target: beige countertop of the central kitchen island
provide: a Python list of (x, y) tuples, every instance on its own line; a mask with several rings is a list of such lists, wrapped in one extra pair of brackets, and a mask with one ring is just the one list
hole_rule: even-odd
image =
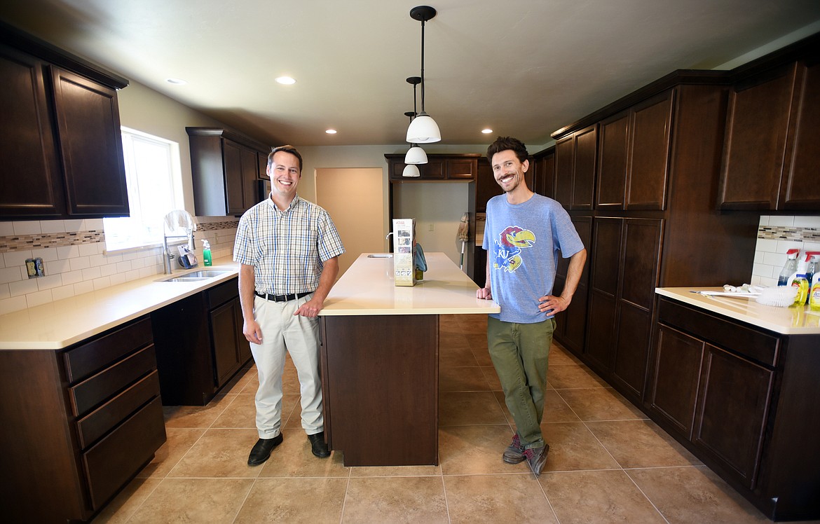
[(362, 253), (336, 282), (320, 316), (487, 314), (501, 311), (492, 300), (476, 298), (478, 286), (444, 253), (425, 253), (424, 280), (396, 286), (393, 258)]

